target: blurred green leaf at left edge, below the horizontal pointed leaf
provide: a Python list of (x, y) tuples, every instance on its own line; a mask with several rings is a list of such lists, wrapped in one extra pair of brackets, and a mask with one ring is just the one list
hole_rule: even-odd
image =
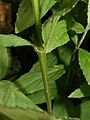
[(10, 55), (9, 49), (5, 47), (0, 47), (0, 79), (4, 78), (10, 67)]

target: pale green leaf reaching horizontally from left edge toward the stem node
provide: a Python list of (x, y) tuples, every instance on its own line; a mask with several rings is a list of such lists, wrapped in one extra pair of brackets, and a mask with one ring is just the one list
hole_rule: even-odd
[(25, 45), (32, 46), (32, 44), (29, 41), (27, 41), (27, 40), (25, 40), (21, 37), (18, 37), (16, 35), (0, 34), (0, 46), (4, 46), (4, 47), (14, 46), (14, 47), (17, 47), (17, 46), (25, 46)]

